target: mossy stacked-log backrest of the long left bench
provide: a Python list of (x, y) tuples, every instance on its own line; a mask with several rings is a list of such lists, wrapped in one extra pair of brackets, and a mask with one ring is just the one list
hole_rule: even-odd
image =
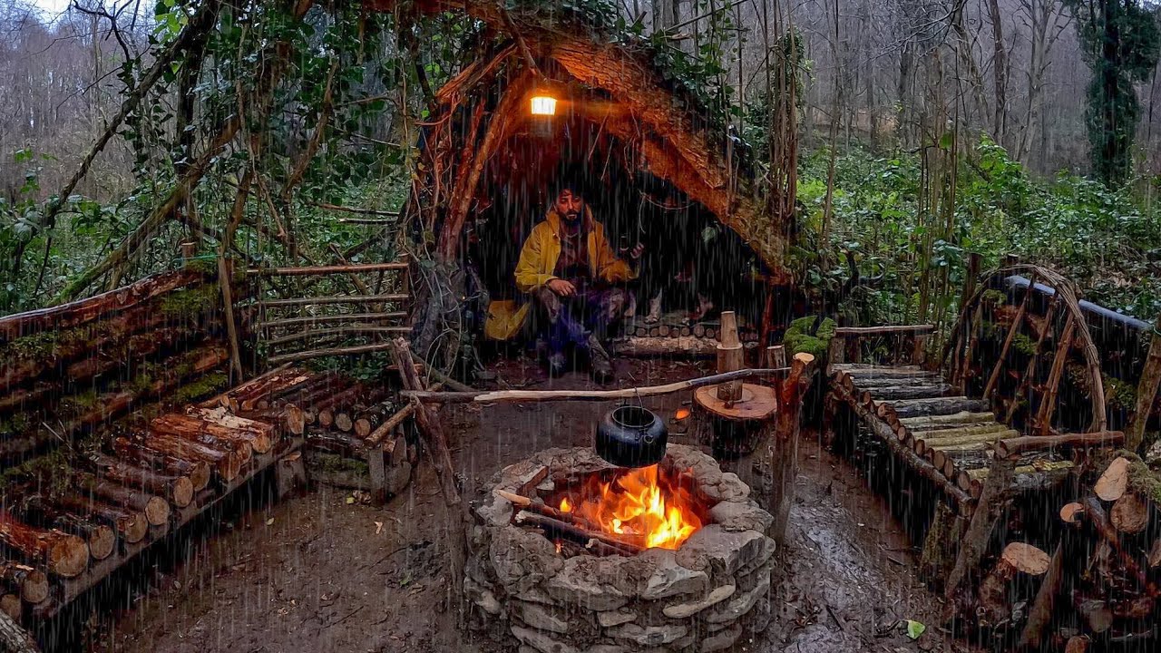
[(0, 459), (84, 437), (179, 390), (209, 394), (207, 379), (224, 383), (211, 374), (229, 359), (219, 301), (211, 279), (182, 268), (0, 318)]

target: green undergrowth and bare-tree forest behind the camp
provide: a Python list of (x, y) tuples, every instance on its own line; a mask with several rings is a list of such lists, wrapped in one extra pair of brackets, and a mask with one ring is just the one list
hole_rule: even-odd
[[(758, 153), (759, 175), (769, 76), (796, 71), (794, 272), (819, 297), (850, 277), (846, 252), (880, 278), (828, 308), (848, 322), (946, 323), (967, 252), (985, 267), (1007, 253), (1053, 265), (1091, 301), (1161, 313), (1161, 10), (1148, 0), (507, 5), (648, 44), (723, 139)], [(199, 24), (202, 46), (156, 70)], [(463, 15), (359, 2), (0, 0), (0, 314), (170, 267), (183, 241), (214, 251), (237, 196), (230, 247), (251, 261), (390, 256), (381, 227), (326, 207), (399, 208), (431, 89), (479, 40)], [(291, 65), (250, 110), (272, 44)], [(216, 127), (237, 112), (219, 151)], [(260, 192), (238, 192), (248, 185)]]

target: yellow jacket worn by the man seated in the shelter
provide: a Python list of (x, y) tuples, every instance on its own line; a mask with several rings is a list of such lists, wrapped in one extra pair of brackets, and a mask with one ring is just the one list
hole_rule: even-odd
[[(605, 237), (605, 225), (592, 218), (592, 211), (584, 208), (585, 229), (589, 232), (589, 272), (593, 279), (608, 284), (628, 281), (636, 278), (636, 272), (616, 257)], [(548, 284), (556, 275), (556, 260), (561, 258), (561, 216), (555, 208), (548, 209), (545, 221), (532, 228), (532, 234), (524, 242), (520, 260), (515, 265), (515, 287), (525, 294), (532, 294)], [(496, 300), (488, 304), (488, 321), (484, 323), (484, 336), (493, 340), (509, 340), (515, 337), (528, 318), (531, 303), (527, 299)]]

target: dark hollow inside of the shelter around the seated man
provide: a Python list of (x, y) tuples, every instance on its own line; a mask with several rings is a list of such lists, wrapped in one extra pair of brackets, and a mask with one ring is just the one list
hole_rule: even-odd
[(519, 299), (513, 271), (521, 246), (560, 187), (570, 184), (604, 223), (619, 257), (628, 260), (636, 244), (644, 246), (640, 275), (628, 284), (639, 318), (652, 300), (669, 320), (713, 318), (727, 309), (756, 325), (762, 271), (741, 237), (650, 173), (635, 143), (611, 134), (607, 120), (619, 109), (607, 95), (577, 84), (539, 92), (553, 93), (555, 115), (532, 114), (533, 89), (475, 198), (467, 258), (490, 299)]

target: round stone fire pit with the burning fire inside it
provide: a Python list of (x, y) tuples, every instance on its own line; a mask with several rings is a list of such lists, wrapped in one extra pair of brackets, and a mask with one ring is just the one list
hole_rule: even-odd
[(471, 627), (498, 644), (723, 651), (770, 620), (773, 517), (693, 447), (641, 468), (549, 449), (490, 485), (464, 593)]

